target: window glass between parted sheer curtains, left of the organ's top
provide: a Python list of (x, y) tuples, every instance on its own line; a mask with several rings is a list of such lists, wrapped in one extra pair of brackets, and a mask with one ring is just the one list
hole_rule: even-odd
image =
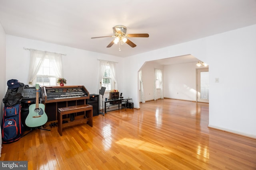
[[(40, 59), (36, 59), (37, 63), (39, 61)], [(35, 82), (41, 86), (56, 86), (57, 79), (58, 76), (55, 74), (53, 64), (50, 62), (50, 59), (46, 57), (46, 59), (44, 59), (44, 63), (36, 74)]]

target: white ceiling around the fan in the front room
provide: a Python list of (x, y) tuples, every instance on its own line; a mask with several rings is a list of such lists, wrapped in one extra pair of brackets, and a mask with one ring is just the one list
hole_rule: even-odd
[[(9, 35), (128, 57), (254, 25), (256, 0), (0, 0), (0, 23)], [(115, 25), (149, 37), (121, 51), (106, 48), (112, 37), (91, 39)]]

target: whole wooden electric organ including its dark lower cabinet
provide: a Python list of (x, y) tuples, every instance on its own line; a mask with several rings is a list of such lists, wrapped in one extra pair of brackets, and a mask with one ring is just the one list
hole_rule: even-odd
[[(89, 92), (84, 86), (42, 87), (42, 102), (45, 105), (48, 121), (57, 120), (58, 108), (84, 105), (87, 99), (89, 99)], [(84, 111), (76, 113), (76, 115), (83, 114)]]

